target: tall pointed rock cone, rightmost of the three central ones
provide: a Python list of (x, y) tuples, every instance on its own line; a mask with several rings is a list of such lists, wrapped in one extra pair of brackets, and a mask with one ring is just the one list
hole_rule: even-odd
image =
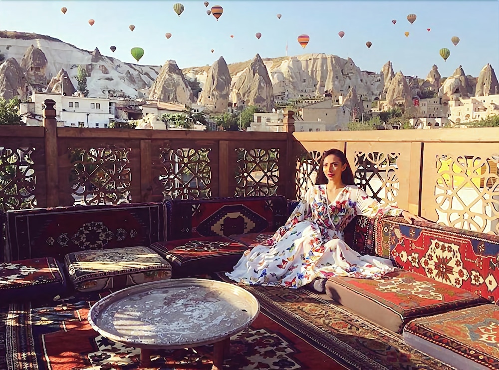
[(255, 105), (266, 111), (273, 108), (273, 88), (267, 68), (256, 54), (232, 88), (232, 101)]

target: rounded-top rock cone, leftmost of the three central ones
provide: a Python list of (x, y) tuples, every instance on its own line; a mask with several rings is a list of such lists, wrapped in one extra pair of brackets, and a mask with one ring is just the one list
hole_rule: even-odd
[(154, 80), (149, 99), (163, 102), (192, 104), (194, 95), (175, 60), (168, 60)]

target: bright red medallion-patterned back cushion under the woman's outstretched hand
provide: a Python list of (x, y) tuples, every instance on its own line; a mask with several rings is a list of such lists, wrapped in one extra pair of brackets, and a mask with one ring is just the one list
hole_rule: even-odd
[(399, 218), (376, 226), (376, 254), (404, 270), (499, 300), (499, 237)]

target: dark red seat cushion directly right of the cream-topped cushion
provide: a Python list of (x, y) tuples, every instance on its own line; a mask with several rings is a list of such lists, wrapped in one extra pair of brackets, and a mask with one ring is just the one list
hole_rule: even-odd
[(171, 263), (174, 277), (232, 271), (248, 247), (227, 237), (157, 242), (152, 246)]

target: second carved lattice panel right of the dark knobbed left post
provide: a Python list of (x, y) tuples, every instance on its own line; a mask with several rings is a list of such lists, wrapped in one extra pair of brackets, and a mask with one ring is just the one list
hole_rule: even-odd
[[(216, 166), (213, 141), (164, 141), (153, 145), (155, 194), (163, 199), (210, 198), (218, 195), (213, 181)], [(215, 189), (214, 189), (215, 184)]]

